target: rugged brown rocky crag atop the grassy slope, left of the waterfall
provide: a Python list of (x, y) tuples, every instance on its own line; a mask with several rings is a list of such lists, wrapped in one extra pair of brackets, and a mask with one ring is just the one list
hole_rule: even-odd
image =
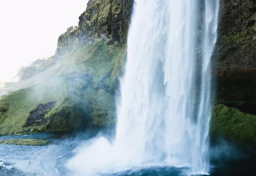
[(90, 0), (87, 9), (79, 17), (78, 26), (68, 28), (58, 39), (57, 52), (72, 50), (76, 38), (81, 46), (95, 42), (97, 38), (126, 44), (134, 0)]

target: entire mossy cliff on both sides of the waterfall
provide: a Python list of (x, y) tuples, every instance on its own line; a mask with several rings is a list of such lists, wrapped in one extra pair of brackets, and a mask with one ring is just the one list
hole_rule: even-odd
[[(21, 69), (21, 81), (0, 99), (0, 134), (114, 124), (132, 6), (90, 0), (78, 26), (59, 37), (56, 54)], [(256, 0), (221, 0), (212, 68), (212, 138), (255, 146)]]

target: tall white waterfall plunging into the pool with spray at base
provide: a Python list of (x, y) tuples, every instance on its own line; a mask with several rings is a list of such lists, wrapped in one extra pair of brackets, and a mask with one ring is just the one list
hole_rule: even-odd
[(114, 172), (167, 165), (208, 172), (210, 59), (217, 37), (218, 1), (134, 3), (117, 101), (116, 138), (112, 143), (103, 137), (93, 139), (69, 166)]

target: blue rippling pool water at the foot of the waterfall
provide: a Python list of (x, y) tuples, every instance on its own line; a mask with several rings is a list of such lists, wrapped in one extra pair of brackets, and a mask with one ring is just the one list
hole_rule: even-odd
[[(74, 151), (81, 141), (90, 143), (96, 131), (74, 134), (38, 133), (32, 135), (0, 136), (2, 139), (39, 138), (50, 140), (47, 146), (0, 145), (0, 176), (185, 176), (189, 168), (149, 165), (119, 170), (115, 173), (80, 172), (66, 167), (66, 162), (74, 157)], [(210, 148), (211, 176), (255, 175), (255, 152), (240, 151), (221, 142)], [(241, 157), (242, 156), (242, 157)], [(90, 158), (94, 160), (95, 157)], [(100, 157), (98, 160), (104, 158)], [(89, 160), (89, 159), (88, 159)], [(82, 161), (81, 164), (84, 164)], [(86, 165), (84, 168), (86, 169)]]

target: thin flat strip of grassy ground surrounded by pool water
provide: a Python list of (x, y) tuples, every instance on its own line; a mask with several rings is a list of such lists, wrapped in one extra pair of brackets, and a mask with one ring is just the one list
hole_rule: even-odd
[(49, 144), (49, 140), (42, 139), (6, 139), (0, 140), (0, 144), (12, 144), (12, 145), (23, 145), (23, 146), (43, 146)]

